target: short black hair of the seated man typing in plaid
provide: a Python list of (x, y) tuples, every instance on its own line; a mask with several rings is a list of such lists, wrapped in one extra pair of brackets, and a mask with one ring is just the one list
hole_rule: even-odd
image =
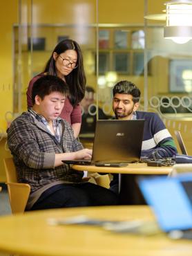
[(50, 93), (55, 91), (68, 95), (68, 85), (64, 80), (54, 75), (44, 75), (40, 77), (32, 86), (32, 104), (35, 104), (36, 95), (38, 95), (41, 100), (44, 100), (46, 95), (50, 95)]

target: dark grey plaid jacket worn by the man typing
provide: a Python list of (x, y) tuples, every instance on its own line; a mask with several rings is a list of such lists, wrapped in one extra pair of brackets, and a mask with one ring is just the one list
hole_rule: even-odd
[(60, 143), (41, 121), (25, 112), (8, 129), (8, 146), (18, 181), (30, 184), (31, 192), (55, 181), (81, 181), (83, 172), (70, 170), (68, 165), (54, 166), (55, 154), (76, 152), (83, 148), (66, 120), (58, 120), (58, 127)]

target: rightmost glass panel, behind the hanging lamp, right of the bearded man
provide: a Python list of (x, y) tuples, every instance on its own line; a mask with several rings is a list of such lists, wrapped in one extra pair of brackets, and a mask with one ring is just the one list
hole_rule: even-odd
[[(154, 10), (154, 1), (148, 0), (147, 15), (163, 13), (164, 2)], [(155, 17), (155, 16), (154, 16)], [(157, 17), (157, 16), (156, 16)], [(165, 20), (146, 21), (146, 53), (150, 55), (151, 75), (146, 77), (147, 110), (159, 113), (175, 139), (175, 130), (180, 130), (192, 154), (192, 41), (177, 44), (164, 39)], [(177, 145), (177, 149), (180, 149)]]

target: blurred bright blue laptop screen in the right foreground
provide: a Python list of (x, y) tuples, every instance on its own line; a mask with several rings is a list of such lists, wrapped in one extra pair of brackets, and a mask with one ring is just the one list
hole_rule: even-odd
[(138, 183), (162, 230), (192, 228), (192, 191), (189, 190), (192, 174), (170, 179), (165, 176), (139, 179)]

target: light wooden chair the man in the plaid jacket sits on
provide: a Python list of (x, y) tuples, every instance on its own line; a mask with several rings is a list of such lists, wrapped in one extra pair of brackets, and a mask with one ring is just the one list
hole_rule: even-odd
[(30, 185), (17, 182), (17, 174), (12, 158), (4, 158), (3, 163), (6, 169), (6, 184), (8, 186), (12, 214), (24, 212), (30, 194)]

